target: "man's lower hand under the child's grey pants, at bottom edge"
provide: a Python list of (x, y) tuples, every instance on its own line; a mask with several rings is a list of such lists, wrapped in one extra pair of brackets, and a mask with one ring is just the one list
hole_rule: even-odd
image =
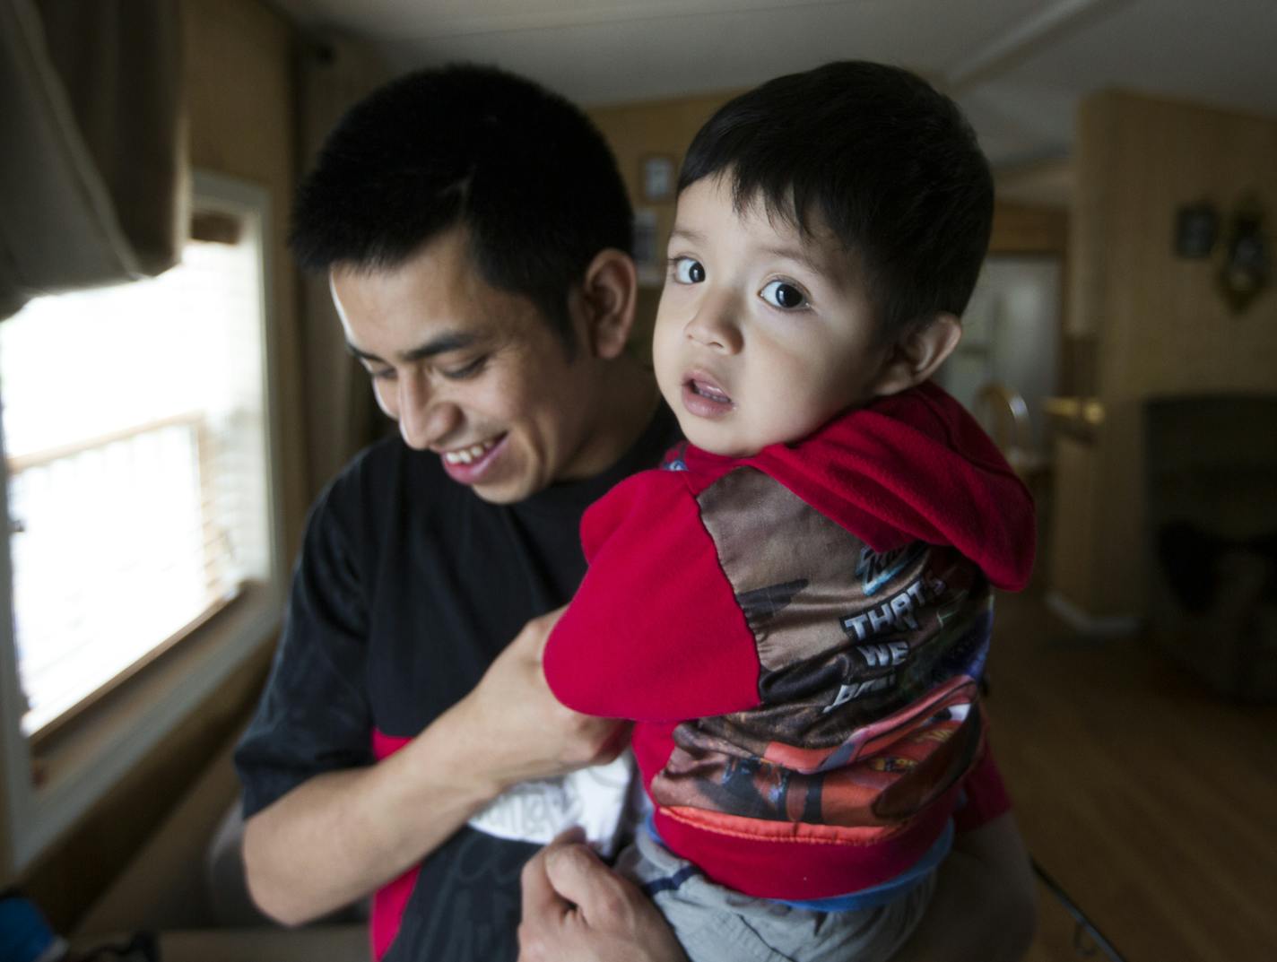
[(656, 907), (580, 837), (561, 836), (524, 866), (518, 962), (687, 962)]

